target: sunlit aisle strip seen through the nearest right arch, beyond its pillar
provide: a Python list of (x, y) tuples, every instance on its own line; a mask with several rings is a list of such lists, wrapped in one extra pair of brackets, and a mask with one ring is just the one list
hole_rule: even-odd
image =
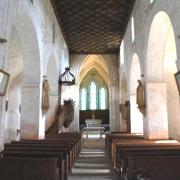
[(174, 73), (177, 72), (176, 60), (176, 42), (173, 27), (170, 24), (165, 44), (164, 78), (167, 85), (169, 135), (173, 138), (176, 138), (179, 132), (177, 123), (180, 116), (179, 94), (174, 78)]

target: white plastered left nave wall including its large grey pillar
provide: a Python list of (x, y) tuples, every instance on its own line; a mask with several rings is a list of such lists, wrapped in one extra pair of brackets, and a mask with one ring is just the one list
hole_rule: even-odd
[[(41, 111), (41, 91), (49, 57), (51, 54), (57, 54), (58, 73), (62, 73), (69, 65), (68, 49), (54, 10), (50, 0), (34, 0), (33, 4), (29, 0), (2, 0), (0, 1), (0, 24), (0, 37), (7, 39), (7, 43), (0, 44), (0, 67), (6, 71), (11, 69), (9, 67), (12, 65), (12, 58), (8, 56), (10, 55), (9, 47), (13, 46), (10, 44), (13, 42), (10, 39), (14, 34), (14, 29), (18, 34), (22, 54), (23, 75), (19, 78), (20, 80), (15, 81), (21, 84), (21, 87), (18, 90), (18, 86), (15, 85), (16, 90), (13, 90), (14, 93), (21, 92), (21, 95), (18, 95), (20, 96), (18, 105), (21, 104), (21, 118), (20, 125), (17, 123), (17, 127), (21, 127), (22, 138), (43, 138), (45, 116)], [(15, 78), (13, 73), (11, 75)], [(13, 96), (10, 93), (11, 87), (12, 85), (9, 86), (7, 97), (0, 98), (0, 149), (3, 148), (5, 126), (8, 128), (5, 101), (12, 101), (9, 99)], [(9, 108), (11, 107), (10, 103)]]

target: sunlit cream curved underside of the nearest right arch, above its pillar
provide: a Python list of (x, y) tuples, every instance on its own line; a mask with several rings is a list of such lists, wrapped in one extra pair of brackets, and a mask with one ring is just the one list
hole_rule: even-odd
[(158, 12), (152, 21), (147, 48), (146, 80), (164, 80), (164, 52), (167, 34), (172, 27), (171, 20), (164, 11)]

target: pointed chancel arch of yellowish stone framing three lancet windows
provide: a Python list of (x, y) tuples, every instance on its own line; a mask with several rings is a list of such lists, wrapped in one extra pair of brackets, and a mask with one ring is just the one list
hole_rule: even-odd
[[(85, 57), (80, 66), (79, 73), (79, 109), (80, 124), (82, 125), (82, 114), (86, 111), (88, 118), (102, 119), (103, 124), (109, 123), (109, 70), (100, 55), (89, 55)], [(85, 97), (86, 95), (86, 97)], [(106, 117), (106, 118), (105, 118)]]

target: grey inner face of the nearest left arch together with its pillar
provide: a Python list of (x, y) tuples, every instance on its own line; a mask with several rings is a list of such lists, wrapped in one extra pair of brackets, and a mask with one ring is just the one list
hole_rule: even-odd
[[(21, 59), (19, 60), (19, 71), (13, 70), (10, 82), (15, 74), (20, 79), (20, 130), (21, 138), (44, 137), (45, 122), (41, 120), (41, 65), (40, 52), (36, 30), (31, 17), (19, 14), (16, 17), (11, 30), (12, 38), (17, 38)], [(13, 41), (9, 41), (9, 48), (16, 48)], [(13, 59), (7, 61), (7, 69), (13, 66)], [(18, 83), (18, 81), (17, 81)], [(15, 81), (16, 84), (16, 81)], [(17, 84), (16, 84), (17, 85)], [(9, 89), (10, 90), (10, 89)]]

